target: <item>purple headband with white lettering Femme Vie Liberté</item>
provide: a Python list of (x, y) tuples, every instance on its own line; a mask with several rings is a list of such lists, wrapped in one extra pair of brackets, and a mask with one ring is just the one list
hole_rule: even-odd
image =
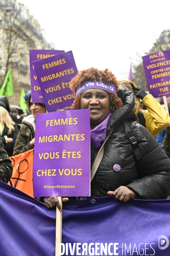
[(81, 94), (83, 91), (86, 91), (87, 89), (91, 89), (91, 88), (99, 88), (99, 89), (103, 89), (105, 91), (109, 91), (116, 94), (115, 85), (106, 81), (97, 80), (97, 81), (82, 82), (81, 85), (79, 85), (76, 88), (76, 96)]

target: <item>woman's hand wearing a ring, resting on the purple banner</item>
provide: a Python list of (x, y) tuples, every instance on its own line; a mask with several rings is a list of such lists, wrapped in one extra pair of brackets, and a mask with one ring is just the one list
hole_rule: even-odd
[(114, 192), (108, 191), (109, 196), (113, 196), (116, 200), (128, 202), (131, 198), (138, 198), (137, 194), (125, 186), (120, 186)]

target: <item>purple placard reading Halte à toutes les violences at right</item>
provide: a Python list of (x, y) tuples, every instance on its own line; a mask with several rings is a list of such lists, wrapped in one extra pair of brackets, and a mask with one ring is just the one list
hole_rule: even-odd
[(170, 95), (170, 50), (143, 56), (147, 86), (153, 97)]

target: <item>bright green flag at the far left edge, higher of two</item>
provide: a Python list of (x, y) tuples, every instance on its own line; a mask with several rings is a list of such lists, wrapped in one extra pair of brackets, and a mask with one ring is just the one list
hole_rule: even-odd
[(2, 87), (0, 88), (0, 96), (12, 96), (14, 94), (13, 82), (12, 82), (12, 72), (11, 68), (6, 74), (6, 78), (3, 82)]

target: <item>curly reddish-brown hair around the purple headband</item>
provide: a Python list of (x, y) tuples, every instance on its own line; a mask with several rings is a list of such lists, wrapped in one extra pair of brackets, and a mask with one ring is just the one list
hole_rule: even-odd
[[(116, 80), (114, 74), (108, 69), (105, 70), (98, 70), (97, 68), (88, 68), (86, 70), (80, 71), (75, 77), (72, 78), (69, 88), (73, 91), (76, 95), (76, 88), (81, 85), (82, 82), (90, 81), (90, 80), (103, 80), (106, 82), (110, 82), (115, 85), (116, 91), (119, 90), (119, 84)], [(118, 97), (117, 94), (107, 91), (110, 96), (110, 105), (112, 107), (112, 111), (114, 112), (117, 109), (120, 109), (123, 104), (121, 98)], [(80, 109), (80, 99), (81, 95), (75, 97), (74, 102), (72, 103), (72, 109)]]

